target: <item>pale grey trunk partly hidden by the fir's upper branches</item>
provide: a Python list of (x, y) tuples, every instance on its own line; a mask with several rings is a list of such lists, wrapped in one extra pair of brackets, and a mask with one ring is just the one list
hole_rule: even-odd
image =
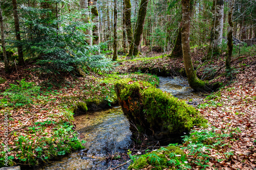
[[(82, 10), (85, 10), (83, 11), (82, 13), (82, 21), (84, 23), (89, 23), (90, 22), (90, 18), (89, 18), (89, 11), (88, 11), (88, 1), (87, 0), (80, 0), (80, 8)], [(84, 31), (84, 34), (87, 34), (87, 44), (88, 45), (92, 45), (92, 37), (91, 37), (91, 30), (90, 29), (87, 29), (86, 31)]]

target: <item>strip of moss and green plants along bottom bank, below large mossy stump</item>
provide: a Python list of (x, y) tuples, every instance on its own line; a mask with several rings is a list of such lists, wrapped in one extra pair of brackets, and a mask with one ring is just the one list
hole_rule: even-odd
[(179, 147), (177, 143), (171, 143), (167, 148), (160, 148), (140, 156), (127, 153), (133, 160), (129, 169), (149, 167), (152, 169), (193, 169), (192, 167), (207, 169), (209, 162), (230, 160), (233, 151), (229, 151), (231, 144), (226, 141), (236, 140), (238, 132), (239, 128), (234, 128), (232, 131), (215, 127), (191, 130), (191, 133), (183, 136), (183, 144)]

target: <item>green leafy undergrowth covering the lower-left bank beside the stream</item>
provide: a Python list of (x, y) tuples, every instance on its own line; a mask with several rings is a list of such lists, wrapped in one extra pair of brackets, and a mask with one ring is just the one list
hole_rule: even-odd
[[(49, 159), (59, 158), (84, 148), (74, 130), (72, 112), (63, 111), (59, 115), (50, 112), (45, 119), (43, 122), (35, 121), (30, 126), (19, 122), (24, 131), (9, 132), (9, 136), (13, 138), (12, 143), (9, 143), (9, 166), (47, 163)], [(0, 167), (5, 166), (5, 153), (6, 151), (0, 153)]]

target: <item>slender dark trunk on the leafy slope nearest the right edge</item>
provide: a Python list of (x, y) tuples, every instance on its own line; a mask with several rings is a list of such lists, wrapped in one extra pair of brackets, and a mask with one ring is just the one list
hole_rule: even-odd
[(233, 22), (232, 22), (232, 16), (233, 16), (233, 9), (234, 9), (234, 0), (230, 2), (229, 12), (228, 12), (228, 35), (227, 35), (227, 47), (228, 47), (228, 55), (226, 57), (226, 72), (231, 72), (231, 56), (232, 56), (232, 50), (233, 50)]

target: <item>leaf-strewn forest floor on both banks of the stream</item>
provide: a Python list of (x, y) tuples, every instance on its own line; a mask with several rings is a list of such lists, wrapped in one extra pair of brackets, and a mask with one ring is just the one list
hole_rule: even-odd
[[(192, 137), (183, 143), (192, 169), (253, 169), (256, 166), (256, 55), (255, 52), (236, 56), (231, 62), (232, 75), (225, 75), (225, 56), (213, 62), (201, 62), (205, 49), (191, 52), (197, 75), (203, 80), (215, 78), (223, 87), (209, 95), (199, 106), (208, 119), (209, 128), (195, 128)], [(0, 95), (0, 143), (4, 136), (4, 119), (8, 118), (9, 165), (34, 165), (47, 162), (72, 150), (82, 148), (75, 131), (73, 113), (115, 104), (113, 84), (121, 78), (150, 81), (158, 84), (156, 75), (185, 76), (182, 58), (156, 57), (127, 60), (114, 64), (111, 74), (89, 74), (86, 77), (39, 75), (34, 64), (14, 67), (12, 74), (4, 72), (0, 62), (0, 93), (12, 89), (10, 84), (25, 79), (41, 86), (39, 94), (29, 96), (29, 102), (17, 103)], [(154, 54), (155, 56), (155, 54)], [(135, 72), (135, 73), (131, 73)], [(54, 81), (51, 81), (51, 78)], [(58, 82), (58, 83), (56, 83)], [(54, 85), (55, 83), (55, 85)], [(20, 83), (19, 83), (20, 84)], [(26, 84), (26, 83), (25, 83)], [(18, 98), (18, 97), (17, 97)], [(7, 115), (7, 116), (6, 116)], [(209, 133), (210, 132), (210, 133)], [(207, 135), (211, 134), (211, 135)], [(203, 137), (202, 137), (203, 136)], [(194, 138), (193, 138), (194, 137)], [(200, 143), (201, 142), (201, 143)], [(215, 144), (216, 143), (216, 144)], [(191, 147), (194, 144), (193, 147)], [(67, 149), (63, 149), (67, 148)], [(0, 167), (5, 152), (0, 153)], [(149, 167), (150, 168), (150, 167)]]

